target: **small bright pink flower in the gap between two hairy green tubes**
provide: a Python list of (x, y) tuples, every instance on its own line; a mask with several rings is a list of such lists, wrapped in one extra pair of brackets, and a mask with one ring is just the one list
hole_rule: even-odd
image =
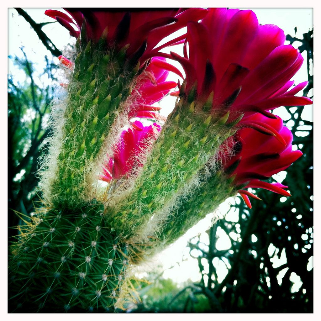
[(113, 149), (113, 156), (103, 166), (100, 179), (106, 182), (113, 178), (120, 179), (132, 169), (143, 166), (140, 155), (156, 140), (159, 131), (160, 126), (156, 123), (143, 126), (136, 120), (131, 128), (122, 132), (119, 143)]

